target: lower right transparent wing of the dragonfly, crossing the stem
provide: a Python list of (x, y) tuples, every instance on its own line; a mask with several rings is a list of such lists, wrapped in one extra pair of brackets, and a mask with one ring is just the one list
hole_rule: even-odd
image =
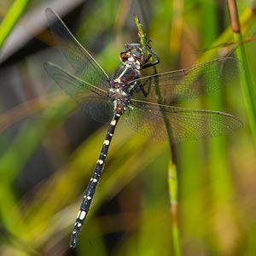
[(174, 108), (132, 100), (126, 110), (126, 121), (131, 129), (148, 137), (166, 140), (166, 120), (171, 125), (172, 142), (216, 137), (241, 128), (240, 119), (217, 111)]

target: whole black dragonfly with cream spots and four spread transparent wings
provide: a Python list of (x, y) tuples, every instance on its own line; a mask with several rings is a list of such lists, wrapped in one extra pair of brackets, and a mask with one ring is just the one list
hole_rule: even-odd
[[(55, 44), (72, 67), (67, 71), (52, 62), (44, 62), (44, 69), (67, 95), (71, 96), (93, 119), (108, 123), (108, 131), (90, 182), (73, 226), (70, 247), (77, 246), (84, 220), (96, 192), (115, 127), (121, 116), (135, 131), (156, 139), (172, 138), (173, 143), (201, 137), (215, 137), (241, 128), (241, 120), (229, 113), (177, 108), (173, 103), (207, 95), (231, 82), (241, 72), (236, 58), (220, 57), (195, 67), (154, 73), (141, 77), (141, 70), (160, 62), (148, 44), (125, 44), (119, 58), (122, 66), (112, 78), (79, 44), (61, 18), (51, 9), (45, 14)], [(159, 102), (157, 90), (162, 96)], [(171, 136), (166, 130), (166, 119)]]

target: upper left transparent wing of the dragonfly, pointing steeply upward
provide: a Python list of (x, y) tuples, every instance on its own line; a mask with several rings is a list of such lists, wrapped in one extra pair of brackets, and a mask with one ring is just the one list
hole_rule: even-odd
[(73, 74), (89, 84), (108, 90), (109, 79), (102, 67), (94, 60), (68, 30), (61, 18), (51, 9), (45, 10), (50, 30), (61, 53), (73, 67)]

